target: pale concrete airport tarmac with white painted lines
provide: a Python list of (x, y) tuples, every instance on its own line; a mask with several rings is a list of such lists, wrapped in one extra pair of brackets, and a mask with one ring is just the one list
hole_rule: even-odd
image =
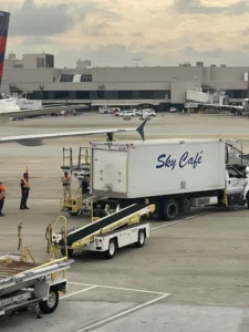
[[(1, 136), (136, 127), (141, 121), (84, 114), (11, 122)], [(165, 114), (146, 124), (147, 138), (228, 137), (248, 145), (248, 118), (216, 115)], [(248, 134), (247, 134), (248, 133)], [(45, 146), (1, 145), (1, 180), (7, 199), (0, 219), (0, 255), (17, 251), (18, 224), (23, 242), (38, 261), (46, 259), (45, 228), (60, 215), (62, 147), (86, 145), (104, 136), (49, 141)], [(141, 139), (137, 133), (115, 139)], [(75, 159), (77, 155), (75, 152)], [(19, 180), (25, 167), (31, 176), (30, 210), (19, 210)], [(77, 183), (74, 180), (74, 189)], [(68, 217), (69, 227), (82, 217)], [(152, 235), (141, 249), (120, 250), (113, 260), (76, 252), (68, 279), (70, 291), (56, 312), (35, 319), (34, 312), (0, 321), (4, 332), (20, 331), (248, 331), (248, 210), (195, 210), (177, 222), (151, 220)]]

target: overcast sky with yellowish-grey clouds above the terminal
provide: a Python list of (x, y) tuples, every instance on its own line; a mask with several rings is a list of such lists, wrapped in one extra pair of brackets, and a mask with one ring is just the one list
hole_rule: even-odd
[(8, 53), (46, 52), (55, 66), (249, 65), (248, 0), (8, 0)]

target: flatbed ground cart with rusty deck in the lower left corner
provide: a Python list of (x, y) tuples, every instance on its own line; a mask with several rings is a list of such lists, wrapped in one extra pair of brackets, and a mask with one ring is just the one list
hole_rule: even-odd
[(50, 314), (58, 308), (59, 293), (68, 291), (65, 270), (73, 260), (50, 257), (48, 262), (37, 263), (30, 250), (22, 249), (21, 229), (19, 226), (20, 252), (0, 257), (0, 317), (29, 308), (35, 308), (39, 317)]

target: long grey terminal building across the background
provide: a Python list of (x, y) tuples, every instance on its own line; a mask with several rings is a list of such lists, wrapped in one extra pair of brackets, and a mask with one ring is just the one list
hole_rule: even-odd
[[(156, 111), (184, 107), (189, 91), (220, 93), (229, 103), (248, 97), (248, 68), (205, 66), (181, 63), (178, 66), (97, 68), (79, 60), (74, 69), (54, 68), (54, 55), (10, 53), (4, 61), (1, 92), (25, 94), (43, 104), (87, 104), (116, 107), (149, 106)], [(195, 102), (195, 101), (193, 101)]]

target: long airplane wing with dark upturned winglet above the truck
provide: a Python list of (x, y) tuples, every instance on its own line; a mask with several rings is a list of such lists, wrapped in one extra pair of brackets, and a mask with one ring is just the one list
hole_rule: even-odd
[(98, 135), (98, 134), (127, 133), (127, 132), (137, 132), (141, 135), (142, 139), (145, 139), (144, 136), (145, 124), (146, 121), (144, 121), (137, 128), (116, 128), (116, 129), (98, 129), (98, 131), (85, 131), (85, 132), (52, 133), (52, 134), (40, 134), (40, 135), (8, 136), (8, 137), (1, 137), (0, 144), (17, 142), (24, 146), (41, 146), (45, 144), (43, 139)]

